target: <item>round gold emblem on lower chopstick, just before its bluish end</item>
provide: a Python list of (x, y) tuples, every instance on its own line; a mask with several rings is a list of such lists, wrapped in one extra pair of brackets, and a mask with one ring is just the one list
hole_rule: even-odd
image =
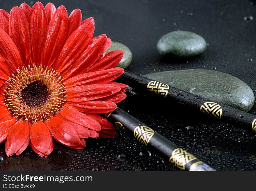
[(182, 148), (177, 148), (173, 151), (172, 156), (169, 159), (169, 162), (178, 167), (181, 170), (185, 170), (186, 163), (197, 159), (192, 154), (186, 152)]

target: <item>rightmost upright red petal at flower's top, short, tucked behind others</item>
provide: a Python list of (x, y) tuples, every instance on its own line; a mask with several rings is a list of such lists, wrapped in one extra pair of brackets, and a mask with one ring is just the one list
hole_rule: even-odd
[(82, 13), (80, 9), (73, 10), (68, 17), (68, 33), (69, 37), (81, 25)]

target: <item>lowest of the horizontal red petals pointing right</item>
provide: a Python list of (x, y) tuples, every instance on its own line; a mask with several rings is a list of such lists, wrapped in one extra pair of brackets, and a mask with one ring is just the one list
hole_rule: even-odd
[(72, 108), (87, 113), (108, 113), (115, 109), (116, 105), (112, 101), (82, 101), (65, 103), (67, 108)]

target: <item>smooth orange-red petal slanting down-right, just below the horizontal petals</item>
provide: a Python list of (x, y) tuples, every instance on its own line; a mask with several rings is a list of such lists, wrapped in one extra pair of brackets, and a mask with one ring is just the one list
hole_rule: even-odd
[(97, 121), (79, 111), (71, 110), (69, 108), (63, 108), (60, 111), (60, 114), (69, 121), (82, 125), (86, 128), (96, 131), (100, 130), (100, 124)]

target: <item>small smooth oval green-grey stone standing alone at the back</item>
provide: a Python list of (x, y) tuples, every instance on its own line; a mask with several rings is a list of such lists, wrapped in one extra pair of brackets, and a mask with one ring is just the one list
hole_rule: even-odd
[(192, 57), (205, 51), (205, 39), (189, 31), (174, 31), (163, 35), (158, 43), (157, 50), (161, 55), (178, 58)]

